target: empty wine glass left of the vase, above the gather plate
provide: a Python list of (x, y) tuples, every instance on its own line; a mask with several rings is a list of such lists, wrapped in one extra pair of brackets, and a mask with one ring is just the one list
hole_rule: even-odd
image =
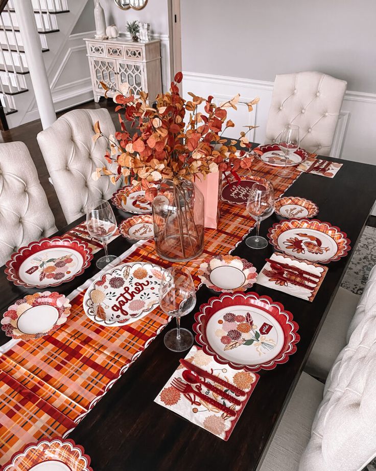
[(108, 201), (96, 200), (87, 204), (86, 227), (91, 237), (103, 244), (105, 256), (97, 260), (97, 267), (102, 269), (116, 259), (115, 255), (108, 254), (107, 249), (107, 242), (117, 228), (115, 215)]

